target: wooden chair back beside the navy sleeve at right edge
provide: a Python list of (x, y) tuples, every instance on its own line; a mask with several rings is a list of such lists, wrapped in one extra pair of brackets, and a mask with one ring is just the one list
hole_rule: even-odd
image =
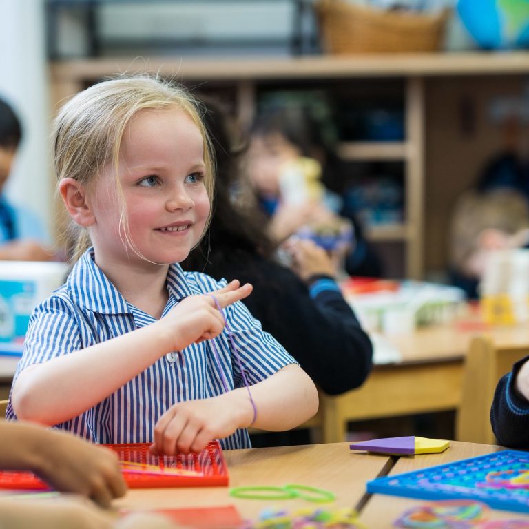
[(464, 366), (456, 419), (457, 440), (497, 443), (490, 426), (490, 406), (497, 383), (512, 369), (512, 364), (528, 354), (529, 344), (497, 347), (486, 336), (473, 338)]

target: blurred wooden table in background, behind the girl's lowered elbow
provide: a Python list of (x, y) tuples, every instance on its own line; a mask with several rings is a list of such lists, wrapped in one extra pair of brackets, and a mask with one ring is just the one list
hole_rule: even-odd
[(528, 326), (480, 328), (456, 322), (386, 337), (401, 352), (400, 362), (374, 366), (361, 388), (320, 395), (322, 440), (343, 441), (349, 421), (457, 410), (464, 358), (478, 334), (490, 335), (501, 347), (529, 346)]

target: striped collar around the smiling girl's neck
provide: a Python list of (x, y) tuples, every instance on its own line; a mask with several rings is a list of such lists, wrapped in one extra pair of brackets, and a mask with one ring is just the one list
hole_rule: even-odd
[[(131, 305), (95, 263), (93, 248), (87, 249), (76, 262), (66, 284), (79, 307), (101, 314), (132, 313)], [(169, 265), (167, 289), (176, 301), (194, 293), (178, 263)]]

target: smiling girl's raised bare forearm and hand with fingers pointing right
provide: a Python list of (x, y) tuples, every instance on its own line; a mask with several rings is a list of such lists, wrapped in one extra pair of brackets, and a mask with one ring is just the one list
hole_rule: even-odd
[[(246, 298), (251, 285), (232, 281), (215, 291), (221, 307)], [(19, 419), (59, 424), (112, 395), (163, 355), (208, 340), (224, 328), (210, 295), (192, 295), (165, 318), (76, 353), (24, 369), (12, 391)]]

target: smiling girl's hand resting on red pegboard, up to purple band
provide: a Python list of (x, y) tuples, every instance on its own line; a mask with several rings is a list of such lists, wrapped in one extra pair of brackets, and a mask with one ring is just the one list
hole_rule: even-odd
[(212, 439), (227, 437), (248, 426), (253, 408), (245, 393), (230, 391), (209, 399), (174, 404), (154, 427), (154, 455), (200, 452)]

